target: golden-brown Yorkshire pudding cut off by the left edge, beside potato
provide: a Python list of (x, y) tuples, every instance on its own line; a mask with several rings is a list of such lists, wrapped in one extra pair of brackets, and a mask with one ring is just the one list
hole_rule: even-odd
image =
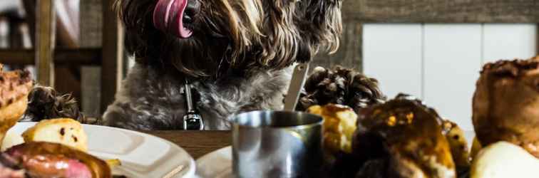
[(6, 72), (0, 64), (0, 140), (24, 114), (33, 85), (28, 71)]

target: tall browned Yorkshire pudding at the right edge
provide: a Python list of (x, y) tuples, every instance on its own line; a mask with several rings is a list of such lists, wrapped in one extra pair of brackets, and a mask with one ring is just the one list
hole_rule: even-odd
[(473, 125), (483, 147), (506, 141), (539, 157), (539, 58), (488, 63), (473, 96)]

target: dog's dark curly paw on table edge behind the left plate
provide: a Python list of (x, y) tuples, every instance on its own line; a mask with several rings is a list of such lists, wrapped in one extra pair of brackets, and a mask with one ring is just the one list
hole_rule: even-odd
[(28, 95), (28, 109), (21, 120), (39, 122), (63, 117), (84, 120), (75, 98), (61, 95), (50, 87), (36, 86)]

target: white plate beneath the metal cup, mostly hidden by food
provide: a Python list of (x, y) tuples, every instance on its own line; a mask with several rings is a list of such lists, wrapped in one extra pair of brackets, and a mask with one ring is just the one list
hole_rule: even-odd
[[(475, 132), (465, 131), (464, 137), (471, 147)], [(232, 178), (232, 147), (224, 147), (197, 159), (197, 177)]]

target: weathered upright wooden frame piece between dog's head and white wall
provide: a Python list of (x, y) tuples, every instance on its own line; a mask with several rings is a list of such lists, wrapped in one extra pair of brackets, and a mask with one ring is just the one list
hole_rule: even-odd
[(334, 54), (320, 51), (319, 55), (313, 58), (311, 70), (316, 66), (332, 68), (338, 65), (362, 71), (362, 37), (363, 25), (359, 21), (344, 21), (339, 51)]

